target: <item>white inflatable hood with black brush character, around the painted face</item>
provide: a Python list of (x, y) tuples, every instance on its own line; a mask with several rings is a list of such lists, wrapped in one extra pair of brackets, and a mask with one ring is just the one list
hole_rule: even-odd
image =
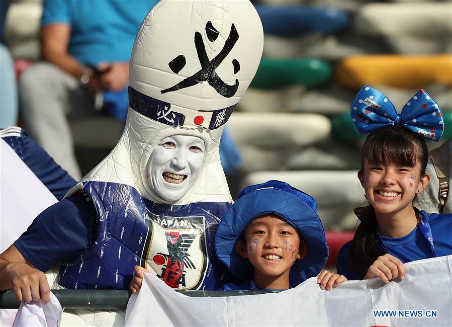
[[(129, 99), (142, 94), (161, 102), (141, 108), (147, 116), (129, 107), (117, 146), (82, 182), (126, 184), (146, 199), (169, 203), (149, 187), (147, 162), (163, 138), (193, 135), (205, 141), (203, 168), (188, 193), (171, 204), (231, 202), (218, 146), (224, 123), (257, 70), (262, 47), (262, 25), (247, 0), (159, 2), (134, 43)], [(140, 101), (130, 103), (139, 107)], [(81, 183), (72, 192), (80, 188)]]

